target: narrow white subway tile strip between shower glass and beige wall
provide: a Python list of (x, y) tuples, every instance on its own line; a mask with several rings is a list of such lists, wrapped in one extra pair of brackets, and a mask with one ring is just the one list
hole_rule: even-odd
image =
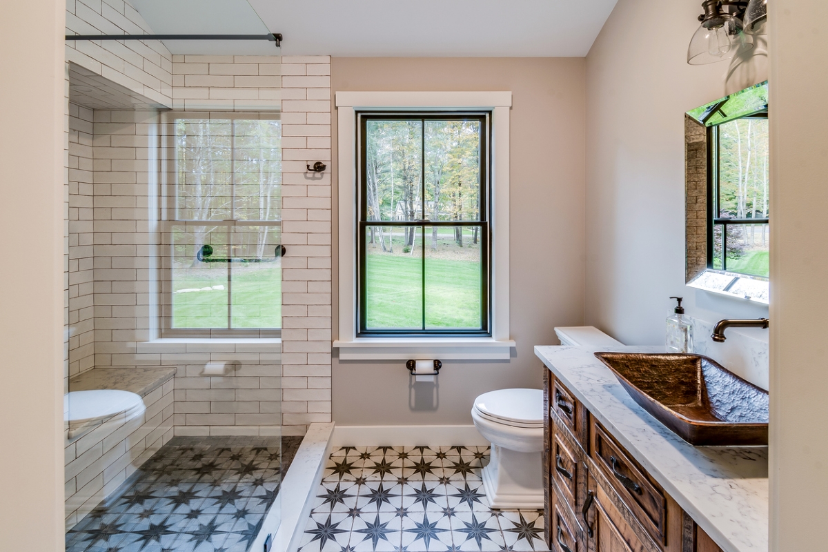
[(303, 432), (330, 422), (330, 117), (330, 56), (282, 56), (282, 419)]

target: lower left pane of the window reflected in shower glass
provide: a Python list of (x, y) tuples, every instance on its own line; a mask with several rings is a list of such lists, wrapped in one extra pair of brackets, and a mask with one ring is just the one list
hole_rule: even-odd
[(227, 264), (200, 262), (196, 255), (209, 243), (214, 257), (227, 257), (228, 238), (225, 227), (172, 228), (172, 328), (227, 328)]

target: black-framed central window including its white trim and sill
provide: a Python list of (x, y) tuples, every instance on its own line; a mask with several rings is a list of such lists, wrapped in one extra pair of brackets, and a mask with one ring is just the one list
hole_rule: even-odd
[(508, 360), (511, 92), (337, 92), (339, 360)]

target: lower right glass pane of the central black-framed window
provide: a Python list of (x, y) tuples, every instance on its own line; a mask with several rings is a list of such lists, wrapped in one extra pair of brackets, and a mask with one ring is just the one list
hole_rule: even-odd
[(436, 247), (426, 247), (426, 329), (481, 329), (483, 262), (479, 239), (475, 242), (479, 227), (433, 231)]

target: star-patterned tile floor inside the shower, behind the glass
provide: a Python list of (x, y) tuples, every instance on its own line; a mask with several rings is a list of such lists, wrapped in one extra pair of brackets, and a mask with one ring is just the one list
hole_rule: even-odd
[[(301, 437), (175, 437), (66, 533), (66, 552), (246, 552)], [(288, 505), (285, 505), (288, 506)]]

